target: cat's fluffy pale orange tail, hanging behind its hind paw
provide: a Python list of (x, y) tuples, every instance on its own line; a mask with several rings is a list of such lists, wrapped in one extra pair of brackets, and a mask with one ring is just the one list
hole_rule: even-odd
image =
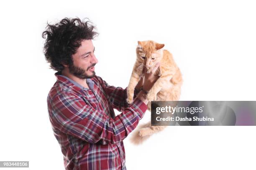
[(133, 143), (134, 145), (140, 145), (144, 141), (146, 141), (151, 135), (140, 136), (138, 131), (141, 130), (142, 128), (150, 127), (150, 125), (151, 122), (138, 125), (138, 127), (135, 130), (133, 130), (133, 133), (131, 134), (131, 143)]

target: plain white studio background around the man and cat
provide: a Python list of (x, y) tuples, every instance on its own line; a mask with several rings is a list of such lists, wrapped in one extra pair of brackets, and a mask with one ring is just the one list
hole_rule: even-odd
[[(89, 18), (96, 74), (126, 87), (138, 40), (165, 44), (180, 67), (180, 100), (255, 100), (256, 5), (253, 0), (0, 2), (0, 160), (31, 170), (62, 170), (46, 97), (54, 84), (42, 53), (46, 22)], [(149, 112), (142, 122), (149, 120)], [(255, 168), (256, 127), (168, 127), (146, 143), (124, 140), (128, 170)], [(11, 169), (11, 168), (10, 168)]]

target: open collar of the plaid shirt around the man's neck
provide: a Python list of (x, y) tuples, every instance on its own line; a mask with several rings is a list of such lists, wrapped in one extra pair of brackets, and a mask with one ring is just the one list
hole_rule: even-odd
[[(81, 88), (82, 90), (89, 90), (88, 88), (83, 87), (82, 85), (78, 84), (74, 80), (71, 80), (69, 77), (61, 75), (61, 72), (56, 72), (54, 75), (56, 76), (57, 80), (59, 80), (61, 82), (64, 82), (65, 84), (69, 84), (70, 85), (70, 83), (72, 83), (73, 85), (75, 85), (76, 87)], [(86, 82), (87, 82), (89, 88), (91, 90), (93, 90), (94, 82), (90, 78), (87, 78)]]

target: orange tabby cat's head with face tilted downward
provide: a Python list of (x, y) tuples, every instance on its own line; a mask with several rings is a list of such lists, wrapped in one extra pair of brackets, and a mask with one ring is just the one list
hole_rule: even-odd
[(138, 41), (138, 46), (136, 48), (137, 60), (144, 65), (147, 72), (150, 72), (157, 62), (160, 62), (163, 57), (164, 44), (159, 44), (157, 42), (148, 41)]

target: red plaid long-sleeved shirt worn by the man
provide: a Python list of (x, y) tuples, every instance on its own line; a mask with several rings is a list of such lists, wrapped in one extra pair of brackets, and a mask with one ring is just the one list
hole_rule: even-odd
[[(56, 74), (47, 97), (54, 135), (67, 170), (126, 170), (123, 140), (138, 125), (147, 106), (126, 102), (126, 89), (95, 75), (89, 88)], [(137, 92), (135, 92), (136, 95)], [(113, 108), (122, 112), (115, 116)]]

